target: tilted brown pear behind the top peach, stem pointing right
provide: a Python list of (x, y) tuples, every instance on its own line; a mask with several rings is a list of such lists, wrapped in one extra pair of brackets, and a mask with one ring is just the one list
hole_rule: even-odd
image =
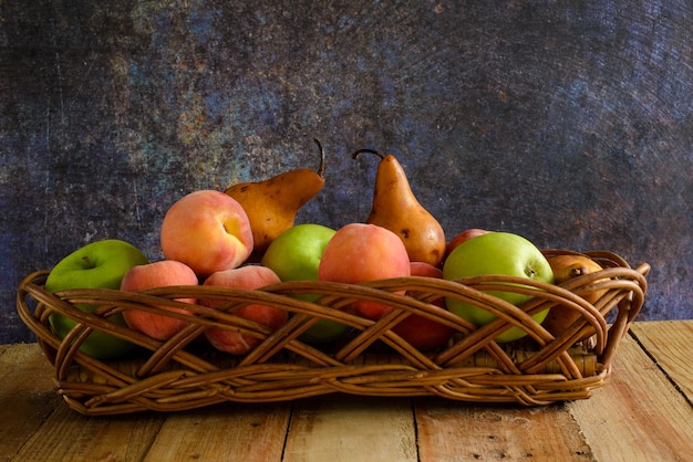
[(293, 227), (299, 209), (324, 186), (324, 151), (320, 141), (314, 141), (320, 149), (317, 171), (300, 168), (226, 189), (227, 195), (240, 202), (250, 220), (255, 240), (252, 256), (261, 256), (279, 234)]

